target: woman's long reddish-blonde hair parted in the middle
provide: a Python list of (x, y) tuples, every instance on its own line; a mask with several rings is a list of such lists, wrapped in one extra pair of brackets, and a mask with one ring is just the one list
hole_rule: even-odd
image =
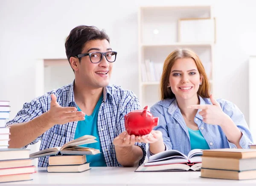
[(175, 94), (172, 92), (171, 88), (167, 86), (169, 85), (169, 76), (172, 66), (179, 58), (192, 58), (195, 61), (195, 65), (198, 68), (199, 74), (203, 76), (202, 85), (200, 85), (198, 89), (198, 95), (203, 98), (209, 98), (210, 84), (201, 60), (194, 51), (189, 48), (183, 48), (173, 51), (171, 54), (169, 54), (169, 56), (167, 56), (166, 60), (164, 61), (163, 73), (160, 80), (161, 99), (163, 100), (166, 98), (175, 98)]

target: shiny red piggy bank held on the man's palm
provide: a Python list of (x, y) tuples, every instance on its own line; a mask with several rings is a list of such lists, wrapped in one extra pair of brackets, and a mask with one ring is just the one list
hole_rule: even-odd
[(143, 110), (134, 110), (125, 115), (125, 129), (129, 135), (141, 136), (151, 132), (157, 126), (158, 118), (148, 111), (148, 106)]

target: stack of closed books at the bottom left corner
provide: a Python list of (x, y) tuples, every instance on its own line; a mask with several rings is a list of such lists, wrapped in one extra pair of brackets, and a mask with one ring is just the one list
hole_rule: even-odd
[(28, 149), (0, 149), (0, 183), (32, 180), (34, 172)]

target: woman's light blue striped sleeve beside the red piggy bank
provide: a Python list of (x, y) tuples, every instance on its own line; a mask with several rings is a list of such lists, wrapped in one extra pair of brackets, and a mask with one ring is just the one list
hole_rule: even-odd
[[(163, 143), (165, 144), (165, 150), (172, 149), (172, 142), (169, 137), (169, 132), (167, 129), (166, 119), (163, 115), (163, 107), (158, 104), (155, 104), (150, 108), (150, 112), (154, 117), (158, 117), (158, 125), (154, 127), (154, 130), (159, 130), (163, 134)], [(150, 147), (150, 144), (149, 144)], [(153, 155), (148, 148), (148, 157)]]

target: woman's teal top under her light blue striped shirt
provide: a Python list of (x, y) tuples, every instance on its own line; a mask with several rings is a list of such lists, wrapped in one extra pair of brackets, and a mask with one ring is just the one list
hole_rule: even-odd
[(193, 149), (210, 149), (209, 145), (207, 144), (204, 136), (200, 132), (200, 130), (192, 130), (187, 127), (189, 130), (189, 137), (190, 137), (190, 144), (191, 150)]

